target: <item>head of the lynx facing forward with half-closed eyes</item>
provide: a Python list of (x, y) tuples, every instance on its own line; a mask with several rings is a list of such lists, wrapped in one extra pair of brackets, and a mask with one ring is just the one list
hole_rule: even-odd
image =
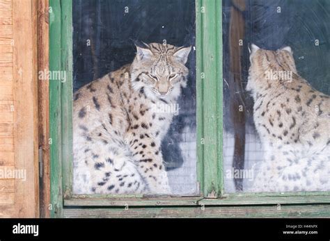
[(151, 99), (175, 100), (187, 85), (189, 69), (185, 66), (191, 47), (170, 44), (136, 44), (131, 65), (132, 87)]

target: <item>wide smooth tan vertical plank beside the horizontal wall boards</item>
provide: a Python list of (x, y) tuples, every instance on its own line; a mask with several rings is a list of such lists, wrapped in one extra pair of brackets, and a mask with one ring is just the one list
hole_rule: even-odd
[(15, 167), (29, 177), (16, 181), (14, 217), (39, 217), (36, 17), (36, 0), (13, 0)]

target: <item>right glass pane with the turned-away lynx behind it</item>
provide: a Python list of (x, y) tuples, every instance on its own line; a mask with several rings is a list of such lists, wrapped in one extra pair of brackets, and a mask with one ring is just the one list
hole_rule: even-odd
[(326, 0), (223, 1), (226, 192), (330, 190), (329, 15)]

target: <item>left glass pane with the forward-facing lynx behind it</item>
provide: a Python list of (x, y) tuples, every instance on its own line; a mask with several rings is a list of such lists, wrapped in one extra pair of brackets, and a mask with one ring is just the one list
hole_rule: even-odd
[(73, 1), (75, 194), (198, 194), (195, 1)]

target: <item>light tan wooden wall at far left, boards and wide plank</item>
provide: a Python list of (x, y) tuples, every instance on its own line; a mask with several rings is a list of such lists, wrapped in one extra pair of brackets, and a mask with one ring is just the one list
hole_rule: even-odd
[(36, 16), (36, 0), (0, 0), (0, 217), (39, 215)]

